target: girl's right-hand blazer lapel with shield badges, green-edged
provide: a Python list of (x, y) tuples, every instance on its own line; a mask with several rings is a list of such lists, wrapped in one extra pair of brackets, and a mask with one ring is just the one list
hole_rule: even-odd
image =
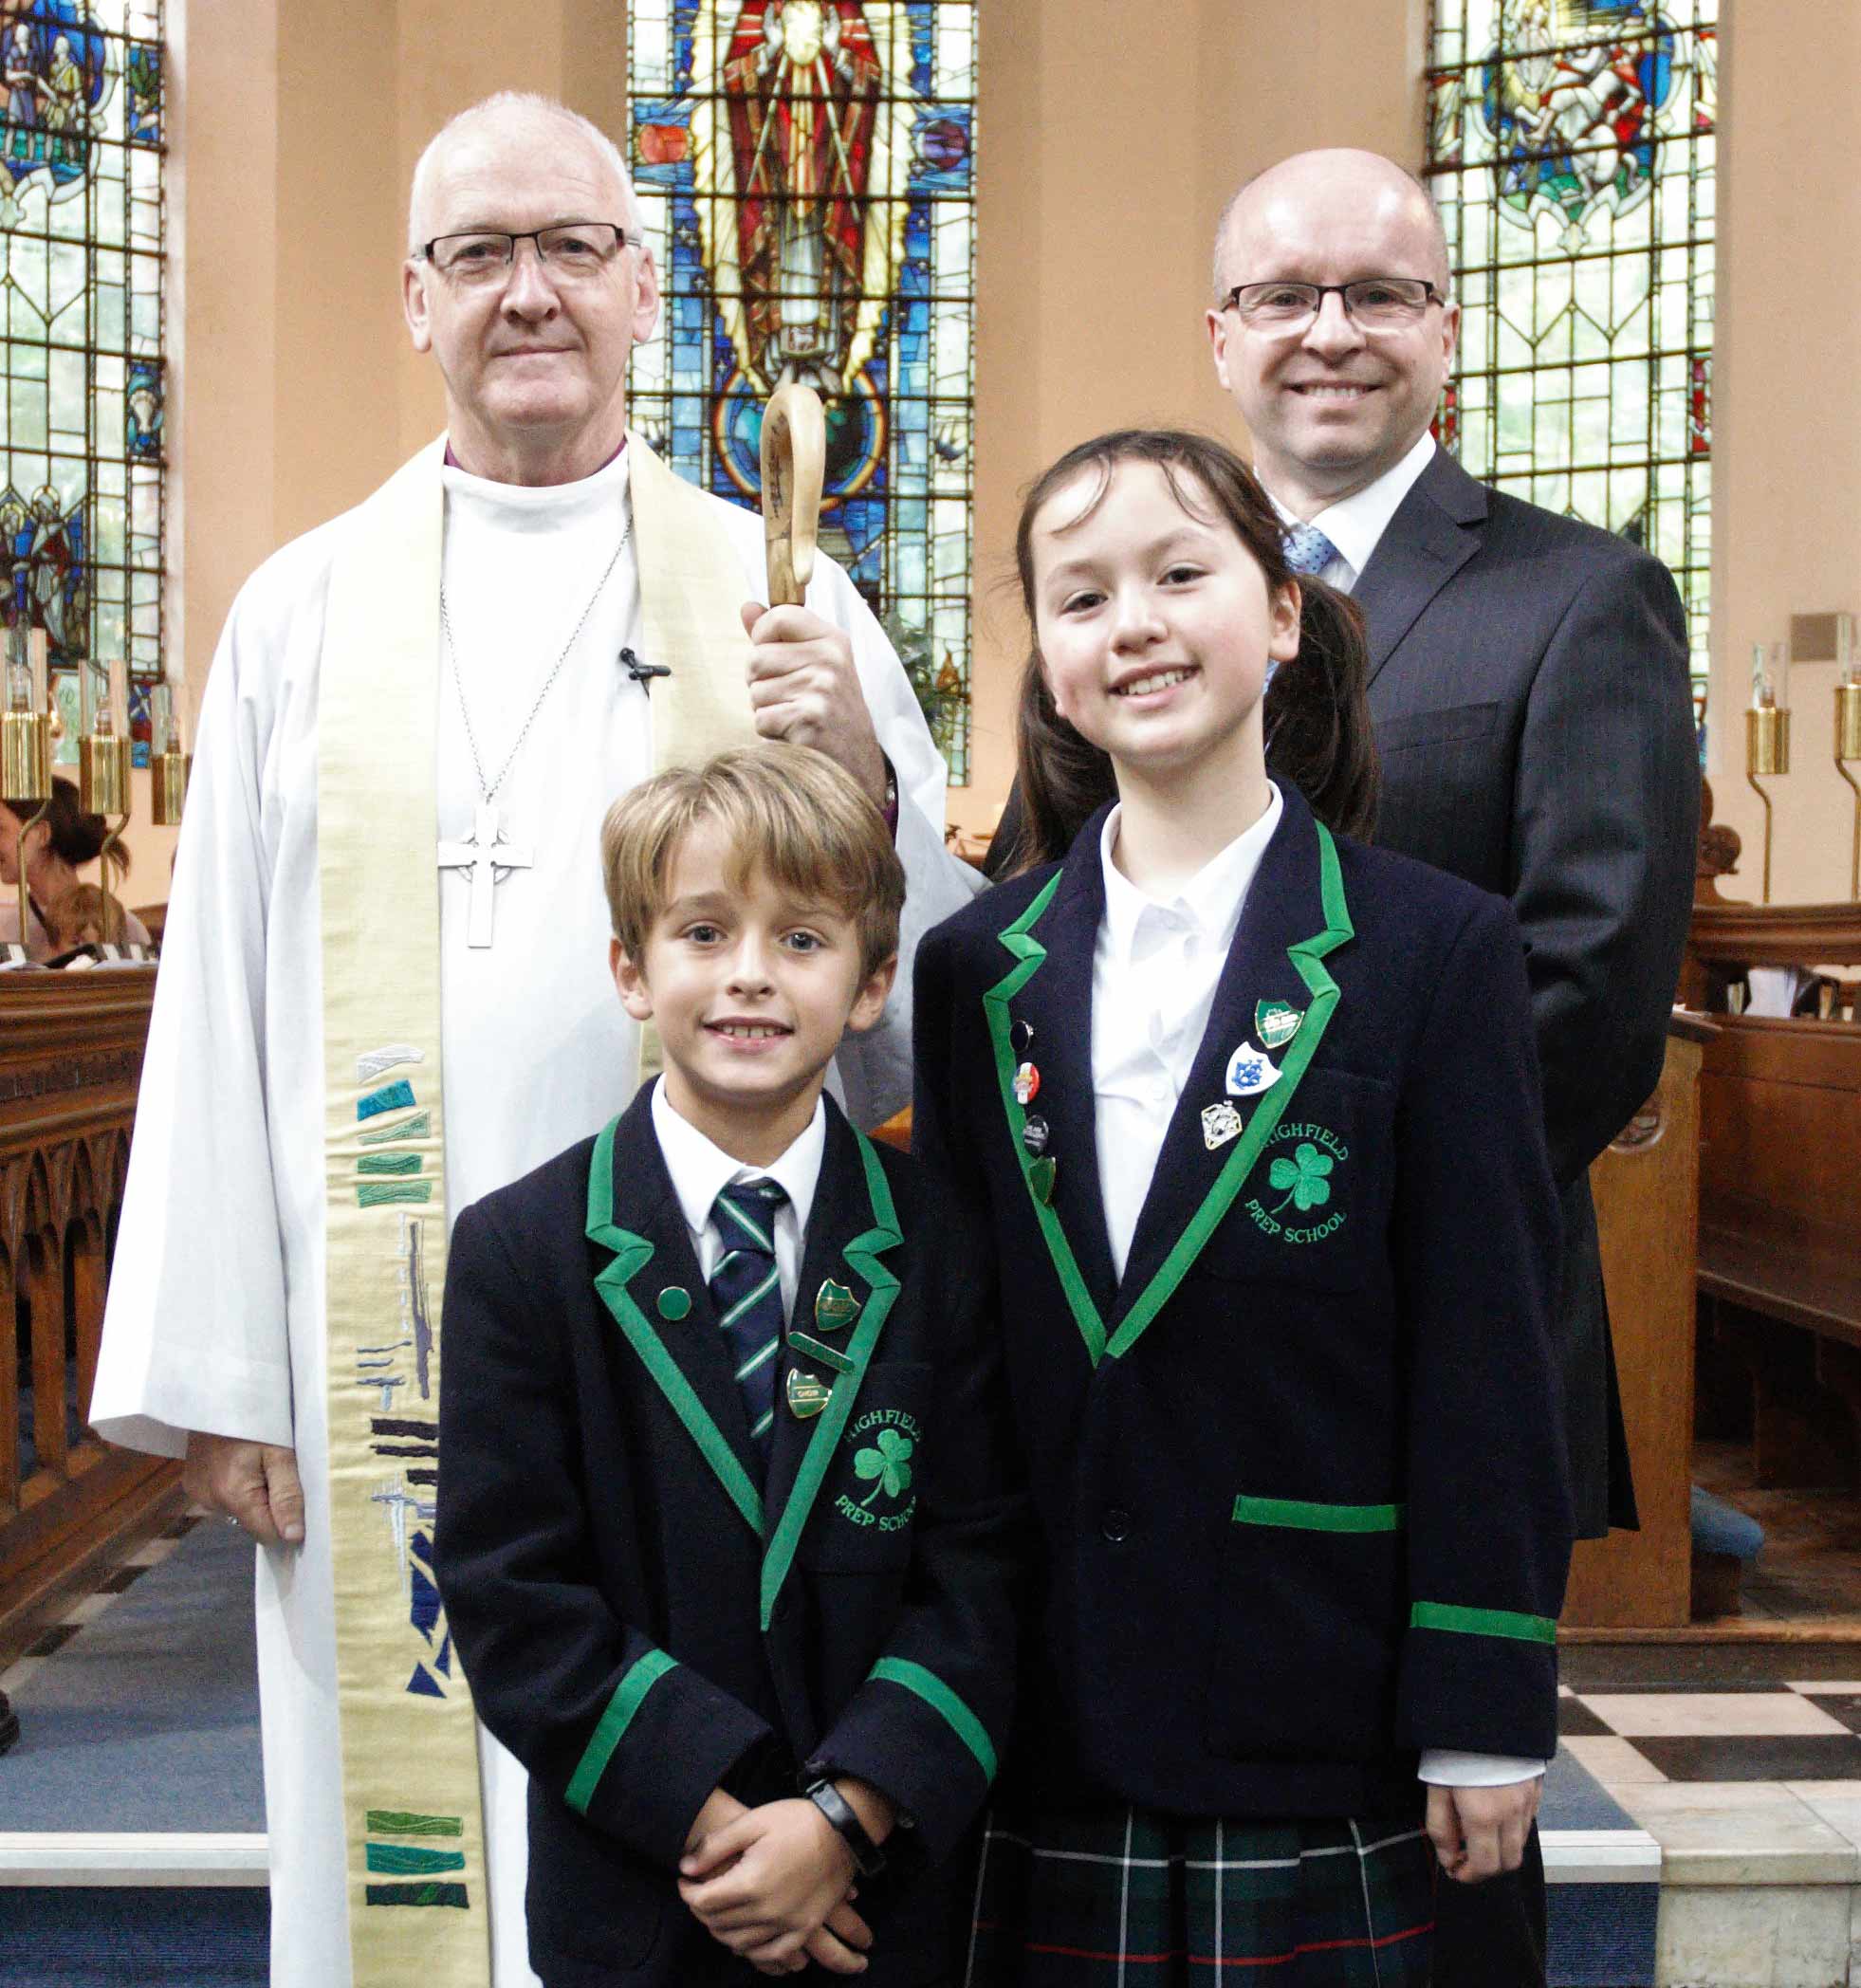
[[(1131, 1237), (1119, 1310), (1105, 1344), (1113, 1360), (1137, 1344), (1227, 1215), (1298, 1093), (1338, 1008), (1338, 984), (1322, 964), (1352, 936), (1338, 855), (1300, 795), (1292, 787), (1282, 793), (1284, 817), (1247, 895), (1209, 1026), (1163, 1135), (1157, 1171)], [(1227, 1097), (1233, 1052), (1243, 1042), (1261, 1048), (1255, 1010), (1263, 1000), (1286, 1002), (1304, 1020), (1282, 1050), (1269, 1052), (1278, 1066), (1278, 1081), (1253, 1099), (1233, 1099), (1245, 1127), (1211, 1153), (1203, 1139), (1203, 1109)]]

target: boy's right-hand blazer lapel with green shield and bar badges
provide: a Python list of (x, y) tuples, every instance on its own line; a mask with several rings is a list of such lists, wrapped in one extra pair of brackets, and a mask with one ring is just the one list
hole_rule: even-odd
[[(899, 1280), (881, 1262), (885, 1250), (903, 1241), (891, 1187), (871, 1141), (857, 1133), (827, 1099), (827, 1147), (821, 1155), (821, 1181), (807, 1219), (807, 1246), (801, 1256), (801, 1276), (795, 1282), (795, 1310), (789, 1338), (801, 1334), (827, 1346), (837, 1362), (801, 1354), (813, 1372), (825, 1366), (833, 1376), (827, 1406), (811, 1421), (797, 1421), (787, 1402), (775, 1404), (775, 1441), (769, 1455), (765, 1509), (769, 1513), (767, 1547), (761, 1571), (761, 1626), (767, 1630), (775, 1614), (775, 1598), (795, 1561), (795, 1547), (807, 1527), (809, 1513), (833, 1461), (833, 1449), (847, 1427), (873, 1348), (885, 1330), (885, 1320), (899, 1296)], [(835, 1282), (853, 1292), (859, 1314), (851, 1330), (819, 1332), (815, 1306), (821, 1286)], [(793, 1346), (783, 1348), (783, 1370), (795, 1360)]]

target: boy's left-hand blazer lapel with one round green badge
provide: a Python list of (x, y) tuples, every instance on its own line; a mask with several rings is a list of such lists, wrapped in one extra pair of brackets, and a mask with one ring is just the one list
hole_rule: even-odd
[[(594, 1290), (732, 1505), (761, 1539), (760, 1459), (684, 1211), (652, 1133), (650, 1093), (652, 1085), (642, 1085), (626, 1113), (594, 1141), (587, 1235), (612, 1252), (594, 1274)], [(618, 1221), (616, 1183), (626, 1191), (630, 1229)], [(678, 1294), (688, 1300), (682, 1312)]]

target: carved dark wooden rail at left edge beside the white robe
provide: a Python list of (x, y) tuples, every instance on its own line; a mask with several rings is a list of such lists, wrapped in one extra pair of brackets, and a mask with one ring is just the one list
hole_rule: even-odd
[(153, 966), (0, 974), (0, 1642), (179, 1483), (84, 1427), (153, 992)]

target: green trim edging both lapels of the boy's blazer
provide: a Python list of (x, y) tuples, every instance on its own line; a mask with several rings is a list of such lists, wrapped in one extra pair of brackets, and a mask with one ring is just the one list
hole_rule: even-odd
[(618, 1123), (618, 1119), (612, 1119), (606, 1125), (594, 1141), (594, 1155), (589, 1163), (587, 1235), (591, 1242), (614, 1252), (614, 1260), (596, 1274), (594, 1288), (600, 1292), (600, 1302), (608, 1308), (626, 1342), (640, 1356), (640, 1364), (672, 1406), (672, 1413), (678, 1415), (686, 1433), (698, 1445), (712, 1475), (724, 1485), (732, 1505), (742, 1513), (744, 1523), (758, 1539), (767, 1541), (761, 1563), (761, 1626), (767, 1630), (775, 1614), (775, 1596), (781, 1592), (781, 1582), (787, 1580), (789, 1567), (795, 1561), (795, 1547), (801, 1543), (801, 1533), (807, 1527), (809, 1513), (827, 1477), (827, 1467), (833, 1461), (833, 1445), (839, 1441), (847, 1417), (853, 1413), (853, 1404), (859, 1398), (859, 1386), (865, 1380), (879, 1332), (899, 1296), (899, 1280), (879, 1260), (883, 1250), (897, 1248), (905, 1241), (899, 1229), (899, 1211), (893, 1203), (885, 1169), (879, 1165), (879, 1155), (873, 1151), (873, 1141), (853, 1127), (853, 1137), (859, 1143), (859, 1161), (865, 1171), (873, 1227), (843, 1244), (841, 1254), (865, 1278), (871, 1294), (859, 1314), (859, 1324), (853, 1328), (851, 1342), (843, 1354), (835, 1354), (835, 1362), (843, 1362), (845, 1372), (833, 1378), (833, 1390), (827, 1396), (827, 1406), (815, 1417), (813, 1435), (801, 1457), (801, 1467), (795, 1471), (787, 1503), (781, 1507), (781, 1517), (775, 1521), (773, 1531), (769, 1531), (761, 1491), (758, 1491), (738, 1453), (730, 1447), (730, 1439), (698, 1400), (692, 1384), (678, 1370), (678, 1362), (666, 1350), (658, 1328), (646, 1318), (628, 1290), (628, 1284), (652, 1262), (654, 1250), (646, 1237), (634, 1235), (630, 1229), (620, 1229), (614, 1223), (614, 1131)]

